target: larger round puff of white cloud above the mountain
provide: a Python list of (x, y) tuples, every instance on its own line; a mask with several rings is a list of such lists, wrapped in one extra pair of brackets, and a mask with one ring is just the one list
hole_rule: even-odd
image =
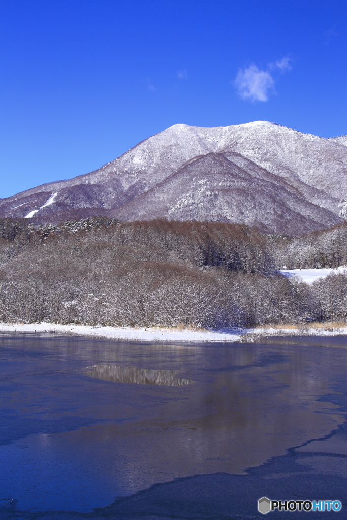
[(272, 75), (266, 70), (258, 69), (256, 65), (239, 70), (235, 80), (239, 95), (250, 101), (267, 101), (274, 84)]

